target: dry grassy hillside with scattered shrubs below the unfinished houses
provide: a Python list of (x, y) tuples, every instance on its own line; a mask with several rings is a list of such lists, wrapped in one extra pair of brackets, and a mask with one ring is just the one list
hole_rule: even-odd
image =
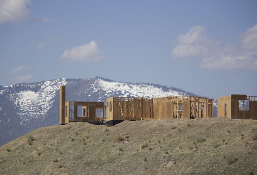
[(0, 174), (257, 174), (256, 131), (222, 118), (43, 127), (0, 147)]

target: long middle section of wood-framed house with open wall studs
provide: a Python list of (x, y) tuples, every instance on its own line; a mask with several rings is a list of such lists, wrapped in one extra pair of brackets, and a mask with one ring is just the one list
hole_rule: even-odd
[(212, 118), (213, 99), (195, 96), (107, 98), (107, 122), (150, 119)]

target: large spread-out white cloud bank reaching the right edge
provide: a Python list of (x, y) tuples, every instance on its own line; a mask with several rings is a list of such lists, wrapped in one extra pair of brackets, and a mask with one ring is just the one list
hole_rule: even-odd
[(257, 69), (257, 24), (242, 34), (242, 48), (221, 45), (205, 36), (204, 30), (203, 26), (195, 26), (179, 35), (172, 57), (201, 59), (200, 67), (207, 69)]

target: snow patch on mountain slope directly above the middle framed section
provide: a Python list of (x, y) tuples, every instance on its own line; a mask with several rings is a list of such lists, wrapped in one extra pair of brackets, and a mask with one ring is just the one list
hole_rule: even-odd
[[(123, 82), (115, 81), (104, 81), (102, 79), (97, 79), (96, 83), (92, 84), (94, 92), (98, 90), (103, 90), (107, 94), (120, 94), (119, 97), (164, 97), (164, 96), (177, 96), (181, 95), (180, 92), (169, 91), (165, 92), (161, 88), (147, 85), (147, 84), (128, 84)], [(120, 93), (118, 93), (120, 92)], [(109, 95), (108, 95), (109, 96)]]

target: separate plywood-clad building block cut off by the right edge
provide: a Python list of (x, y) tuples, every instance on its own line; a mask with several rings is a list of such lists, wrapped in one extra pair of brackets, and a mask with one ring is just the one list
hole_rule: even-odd
[(231, 95), (218, 98), (217, 116), (257, 119), (257, 96)]

